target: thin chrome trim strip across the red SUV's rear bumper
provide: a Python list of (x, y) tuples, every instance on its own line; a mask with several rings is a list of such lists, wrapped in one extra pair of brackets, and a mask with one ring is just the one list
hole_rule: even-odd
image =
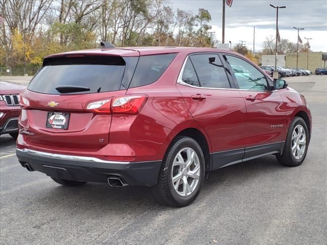
[(82, 156), (72, 156), (72, 155), (62, 155), (62, 154), (55, 154), (55, 153), (48, 153), (48, 152), (39, 152), (30, 149), (18, 149), (17, 151), (31, 153), (38, 156), (44, 157), (51, 157), (57, 159), (65, 159), (65, 160), (78, 160), (78, 161), (85, 161), (85, 162), (102, 162), (102, 163), (115, 163), (115, 164), (129, 164), (130, 162), (120, 162), (120, 161), (106, 161), (96, 157), (82, 157)]

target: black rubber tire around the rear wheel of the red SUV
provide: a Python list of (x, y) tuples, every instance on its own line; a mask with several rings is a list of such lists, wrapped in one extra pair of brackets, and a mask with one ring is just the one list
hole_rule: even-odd
[[(172, 170), (173, 170), (173, 161), (176, 155), (183, 148), (192, 148), (199, 157), (200, 161), (200, 177), (199, 182), (190, 195), (187, 197), (181, 197), (175, 191), (172, 184)], [(177, 136), (171, 144), (162, 160), (158, 182), (155, 186), (152, 187), (154, 197), (157, 201), (164, 205), (169, 205), (173, 207), (184, 207), (190, 205), (200, 193), (200, 189), (204, 182), (205, 176), (205, 161), (201, 146), (196, 140), (187, 136)]]

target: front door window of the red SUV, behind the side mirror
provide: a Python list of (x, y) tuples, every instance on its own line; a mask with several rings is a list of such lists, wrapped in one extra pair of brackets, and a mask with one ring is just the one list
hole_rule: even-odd
[(267, 80), (258, 69), (245, 60), (226, 55), (226, 60), (234, 71), (240, 89), (267, 90)]

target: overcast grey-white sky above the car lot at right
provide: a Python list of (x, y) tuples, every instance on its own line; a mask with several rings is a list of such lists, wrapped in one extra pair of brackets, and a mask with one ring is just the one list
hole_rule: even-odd
[[(199, 8), (209, 11), (212, 21), (209, 23), (216, 32), (216, 38), (222, 36), (222, 0), (170, 0), (173, 9), (182, 9), (197, 13)], [(248, 48), (253, 47), (253, 26), (255, 26), (255, 50), (262, 49), (267, 36), (275, 37), (276, 9), (269, 6), (286, 6), (278, 10), (278, 29), (281, 38), (297, 42), (297, 31), (293, 27), (305, 28), (300, 31), (303, 42), (310, 40), (312, 51), (327, 52), (327, 1), (326, 0), (233, 0), (231, 8), (226, 5), (225, 43), (232, 45), (240, 40), (246, 41)]]

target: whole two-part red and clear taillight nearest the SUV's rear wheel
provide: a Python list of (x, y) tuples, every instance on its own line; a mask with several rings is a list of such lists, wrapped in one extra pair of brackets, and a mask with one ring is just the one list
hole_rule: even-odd
[(91, 102), (86, 110), (101, 114), (138, 114), (144, 106), (147, 96), (132, 95)]

